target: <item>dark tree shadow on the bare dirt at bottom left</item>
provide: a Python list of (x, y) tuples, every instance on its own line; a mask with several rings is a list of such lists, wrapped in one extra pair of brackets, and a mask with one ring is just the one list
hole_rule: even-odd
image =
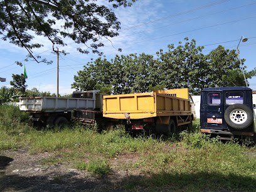
[[(109, 191), (113, 184), (105, 180), (76, 178), (75, 174), (21, 176), (11, 174), (0, 177), (0, 191)], [(98, 190), (99, 189), (99, 190)]]

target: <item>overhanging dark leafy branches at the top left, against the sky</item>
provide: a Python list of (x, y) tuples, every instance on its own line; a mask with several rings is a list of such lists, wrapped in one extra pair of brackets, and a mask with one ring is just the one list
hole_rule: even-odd
[[(136, 0), (106, 0), (113, 8), (131, 6)], [(61, 26), (58, 21), (63, 21)], [(28, 50), (43, 46), (33, 43), (35, 35), (45, 36), (51, 43), (66, 45), (64, 38), (87, 48), (81, 53), (102, 54), (100, 41), (117, 36), (120, 23), (114, 12), (97, 0), (0, 0), (0, 35), (2, 40)]]

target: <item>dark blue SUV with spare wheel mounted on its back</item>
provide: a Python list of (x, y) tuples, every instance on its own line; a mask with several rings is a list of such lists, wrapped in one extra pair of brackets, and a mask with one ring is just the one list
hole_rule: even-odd
[[(248, 87), (205, 88), (201, 92), (201, 132), (255, 138), (252, 90)], [(229, 137), (227, 137), (229, 136)]]

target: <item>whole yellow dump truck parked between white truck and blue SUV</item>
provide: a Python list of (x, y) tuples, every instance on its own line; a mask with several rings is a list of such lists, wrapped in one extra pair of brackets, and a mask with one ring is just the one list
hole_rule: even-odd
[(125, 124), (128, 132), (152, 129), (170, 135), (177, 126), (190, 125), (193, 120), (188, 88), (103, 98), (103, 117)]

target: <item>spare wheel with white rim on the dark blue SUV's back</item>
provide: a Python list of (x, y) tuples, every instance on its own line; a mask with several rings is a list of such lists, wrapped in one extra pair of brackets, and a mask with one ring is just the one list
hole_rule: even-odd
[(230, 105), (224, 113), (224, 119), (230, 127), (237, 130), (246, 129), (253, 122), (252, 110), (243, 104)]

